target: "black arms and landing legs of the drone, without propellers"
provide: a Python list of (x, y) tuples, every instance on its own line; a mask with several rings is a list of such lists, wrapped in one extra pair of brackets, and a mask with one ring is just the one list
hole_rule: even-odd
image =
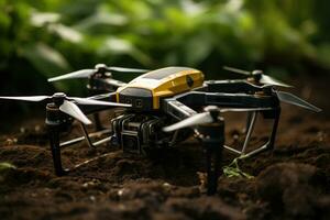
[[(122, 84), (110, 84), (109, 79), (90, 79), (94, 80), (94, 87), (89, 87), (91, 90), (95, 89), (100, 92), (101, 90), (113, 90)], [(117, 80), (116, 80), (117, 81)], [(110, 88), (111, 87), (111, 88)], [(100, 89), (101, 88), (101, 89)], [(108, 100), (116, 101), (116, 92), (109, 92), (106, 95), (97, 95), (89, 97), (95, 100)], [(279, 100), (272, 87), (267, 86), (255, 86), (244, 80), (219, 80), (219, 81), (206, 81), (205, 85), (193, 91), (188, 91), (172, 98), (165, 98), (162, 100), (162, 109), (164, 113), (172, 116), (173, 118), (184, 120), (197, 113), (194, 109), (199, 109), (206, 106), (217, 106), (220, 108), (251, 108), (251, 109), (266, 109), (263, 111), (251, 111), (248, 117), (248, 130), (244, 144), (242, 150), (239, 151), (234, 147), (224, 145), (224, 121), (215, 113), (215, 122), (204, 125), (198, 125), (195, 129), (198, 140), (202, 142), (202, 145), (207, 155), (207, 173), (208, 173), (208, 194), (212, 195), (217, 190), (217, 179), (220, 175), (220, 164), (222, 150), (229, 150), (240, 156), (250, 157), (254, 156), (266, 150), (274, 147), (276, 138), (276, 131), (280, 114)], [(101, 110), (109, 109), (109, 107), (79, 107), (86, 114), (98, 113)], [(70, 168), (63, 167), (61, 160), (62, 148), (76, 144), (80, 141), (87, 141), (88, 145), (96, 147), (97, 145), (110, 142), (110, 135), (106, 139), (92, 143), (91, 138), (100, 134), (110, 134), (110, 129), (98, 130), (95, 133), (88, 134), (85, 124), (81, 123), (84, 136), (66, 141), (61, 143), (61, 132), (67, 130), (70, 125), (72, 120), (69, 117), (59, 111), (58, 106), (55, 103), (48, 103), (46, 107), (46, 125), (50, 133), (51, 151), (53, 155), (55, 174), (58, 176), (65, 175), (68, 172), (80, 167), (87, 162), (77, 164)], [(219, 112), (218, 112), (219, 113)], [(251, 152), (246, 151), (246, 146), (250, 142), (255, 120), (258, 113), (262, 113), (267, 119), (273, 119), (273, 131), (268, 141), (262, 146)], [(106, 156), (106, 155), (105, 155)], [(89, 160), (88, 162), (100, 158), (100, 156)]]

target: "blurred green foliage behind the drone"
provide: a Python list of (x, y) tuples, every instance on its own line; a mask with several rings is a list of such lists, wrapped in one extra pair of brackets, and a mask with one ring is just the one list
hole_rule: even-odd
[[(97, 63), (330, 68), (327, 0), (0, 0), (0, 92), (78, 92), (46, 78)], [(131, 76), (133, 77), (133, 76)]]

